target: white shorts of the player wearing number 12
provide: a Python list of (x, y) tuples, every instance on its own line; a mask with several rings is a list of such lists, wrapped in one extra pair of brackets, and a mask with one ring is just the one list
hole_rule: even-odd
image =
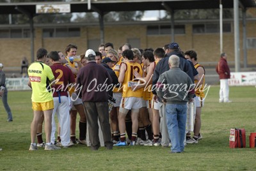
[(132, 108), (141, 108), (142, 103), (141, 103), (142, 98), (135, 98), (135, 97), (129, 97), (129, 98), (122, 98), (121, 103), (120, 103), (120, 108), (126, 108), (131, 110)]

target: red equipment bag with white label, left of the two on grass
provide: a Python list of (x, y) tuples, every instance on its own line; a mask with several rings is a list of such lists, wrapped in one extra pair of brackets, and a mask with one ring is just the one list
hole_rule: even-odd
[(229, 136), (229, 147), (230, 148), (245, 148), (245, 130), (244, 129), (230, 129)]

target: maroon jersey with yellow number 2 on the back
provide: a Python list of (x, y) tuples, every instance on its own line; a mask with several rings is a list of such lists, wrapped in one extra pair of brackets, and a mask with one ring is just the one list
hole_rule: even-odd
[(68, 96), (68, 84), (76, 82), (72, 71), (62, 64), (53, 64), (51, 69), (56, 80), (54, 86), (55, 91), (52, 96), (58, 97), (58, 93), (60, 93), (60, 96)]

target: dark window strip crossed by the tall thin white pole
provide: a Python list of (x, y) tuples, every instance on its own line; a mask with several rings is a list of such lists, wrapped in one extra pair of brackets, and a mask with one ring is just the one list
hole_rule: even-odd
[[(220, 33), (220, 24), (193, 24), (193, 33)], [(223, 23), (223, 33), (231, 33), (230, 23)]]

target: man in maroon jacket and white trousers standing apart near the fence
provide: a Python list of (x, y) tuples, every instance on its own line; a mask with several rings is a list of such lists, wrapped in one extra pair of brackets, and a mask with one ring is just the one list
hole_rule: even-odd
[(220, 76), (220, 103), (230, 103), (229, 100), (229, 87), (228, 87), (228, 78), (230, 78), (230, 70), (227, 63), (227, 54), (222, 53), (220, 55), (220, 61), (216, 66), (216, 72)]

